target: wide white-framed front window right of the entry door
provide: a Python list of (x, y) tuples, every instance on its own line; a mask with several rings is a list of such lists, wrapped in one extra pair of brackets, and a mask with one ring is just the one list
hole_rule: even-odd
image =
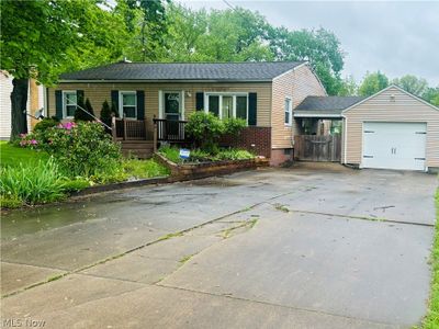
[(248, 95), (233, 93), (207, 93), (206, 112), (219, 118), (239, 117), (248, 118)]

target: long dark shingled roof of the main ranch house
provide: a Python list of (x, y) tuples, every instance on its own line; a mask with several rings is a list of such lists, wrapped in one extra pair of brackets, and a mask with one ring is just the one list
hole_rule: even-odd
[(60, 80), (214, 80), (269, 81), (304, 61), (127, 63), (64, 73)]

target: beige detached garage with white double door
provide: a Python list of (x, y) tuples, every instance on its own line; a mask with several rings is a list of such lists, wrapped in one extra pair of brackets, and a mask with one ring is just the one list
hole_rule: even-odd
[(391, 86), (341, 113), (341, 162), (360, 168), (439, 168), (439, 109)]

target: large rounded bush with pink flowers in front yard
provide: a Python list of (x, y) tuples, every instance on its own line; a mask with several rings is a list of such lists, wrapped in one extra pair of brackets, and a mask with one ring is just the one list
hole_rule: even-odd
[(20, 145), (47, 151), (70, 178), (105, 182), (122, 172), (120, 146), (97, 122), (60, 123), (22, 136)]

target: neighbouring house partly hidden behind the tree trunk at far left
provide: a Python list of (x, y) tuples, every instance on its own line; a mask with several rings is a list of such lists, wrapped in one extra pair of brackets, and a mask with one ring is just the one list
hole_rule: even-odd
[[(0, 140), (9, 140), (11, 136), (11, 92), (12, 77), (5, 71), (0, 71)], [(37, 86), (35, 80), (30, 80), (27, 92), (29, 114), (34, 114), (37, 110), (44, 107), (43, 86)], [(36, 124), (36, 120), (27, 117), (27, 129)]]

